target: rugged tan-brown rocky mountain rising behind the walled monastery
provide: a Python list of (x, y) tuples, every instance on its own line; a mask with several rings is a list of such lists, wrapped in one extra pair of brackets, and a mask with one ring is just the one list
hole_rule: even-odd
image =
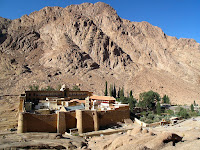
[(63, 83), (103, 94), (108, 81), (135, 96), (148, 90), (167, 94), (174, 103), (200, 97), (199, 43), (124, 20), (105, 3), (0, 18), (0, 51), (1, 94)]

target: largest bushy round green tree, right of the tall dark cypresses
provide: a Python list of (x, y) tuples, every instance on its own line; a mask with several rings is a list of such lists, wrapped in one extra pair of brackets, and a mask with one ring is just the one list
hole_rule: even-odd
[(156, 102), (160, 101), (160, 95), (157, 92), (148, 91), (140, 93), (140, 106), (155, 110)]

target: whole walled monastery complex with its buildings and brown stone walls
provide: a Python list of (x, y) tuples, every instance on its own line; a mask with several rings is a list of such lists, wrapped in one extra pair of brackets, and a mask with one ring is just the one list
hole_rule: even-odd
[(130, 118), (129, 105), (89, 91), (25, 91), (20, 96), (18, 133), (98, 131)]

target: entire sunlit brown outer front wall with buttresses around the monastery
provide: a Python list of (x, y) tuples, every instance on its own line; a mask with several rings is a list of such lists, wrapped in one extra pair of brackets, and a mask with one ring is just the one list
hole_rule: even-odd
[(124, 122), (124, 119), (128, 118), (130, 118), (128, 109), (109, 111), (76, 110), (76, 112), (59, 112), (58, 114), (50, 115), (20, 113), (18, 133), (64, 133), (71, 128), (78, 128), (79, 133), (84, 133), (116, 125), (118, 122)]

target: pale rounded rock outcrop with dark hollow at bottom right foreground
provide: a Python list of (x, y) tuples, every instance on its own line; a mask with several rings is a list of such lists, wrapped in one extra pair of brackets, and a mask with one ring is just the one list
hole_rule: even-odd
[(157, 134), (149, 134), (148, 132), (147, 129), (136, 127), (130, 130), (130, 132), (120, 135), (112, 134), (102, 137), (92, 137), (88, 142), (88, 148), (95, 150), (160, 150), (177, 146), (176, 144), (181, 143), (183, 138), (171, 132), (158, 132)]

